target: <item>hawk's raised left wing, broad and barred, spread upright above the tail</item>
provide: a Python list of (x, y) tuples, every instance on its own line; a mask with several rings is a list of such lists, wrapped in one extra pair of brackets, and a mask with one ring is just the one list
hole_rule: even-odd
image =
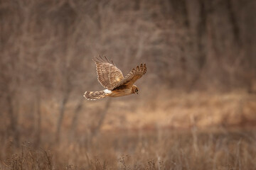
[(105, 88), (113, 89), (114, 86), (124, 79), (121, 70), (115, 66), (113, 61), (108, 60), (107, 57), (99, 56), (93, 60), (96, 64), (97, 79)]

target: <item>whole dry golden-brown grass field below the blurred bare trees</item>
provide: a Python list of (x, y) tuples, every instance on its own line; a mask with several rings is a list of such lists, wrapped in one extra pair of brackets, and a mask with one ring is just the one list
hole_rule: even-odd
[[(169, 100), (157, 103), (163, 98)], [(56, 115), (50, 112), (54, 105), (43, 104), (41, 144), (36, 145), (36, 134), (26, 133), (29, 125), (22, 125), (19, 147), (11, 138), (1, 139), (1, 169), (256, 168), (255, 95), (173, 91), (150, 104), (136, 103), (143, 109), (133, 110), (112, 98), (107, 112), (103, 102), (87, 102), (73, 136), (70, 104), (58, 143), (51, 120)]]

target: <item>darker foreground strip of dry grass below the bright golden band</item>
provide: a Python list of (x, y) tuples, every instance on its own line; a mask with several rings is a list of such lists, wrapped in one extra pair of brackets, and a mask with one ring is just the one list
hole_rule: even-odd
[(38, 149), (6, 142), (1, 169), (256, 169), (255, 143), (255, 129), (101, 132)]

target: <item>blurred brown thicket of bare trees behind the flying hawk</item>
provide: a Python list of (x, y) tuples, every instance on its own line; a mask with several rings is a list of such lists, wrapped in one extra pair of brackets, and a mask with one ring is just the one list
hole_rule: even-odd
[(53, 100), (58, 140), (67, 103), (79, 113), (84, 91), (100, 89), (97, 55), (124, 74), (146, 62), (144, 89), (251, 91), (255, 10), (252, 0), (1, 0), (1, 135), (18, 141), (18, 119), (29, 113), (40, 141), (41, 103)]

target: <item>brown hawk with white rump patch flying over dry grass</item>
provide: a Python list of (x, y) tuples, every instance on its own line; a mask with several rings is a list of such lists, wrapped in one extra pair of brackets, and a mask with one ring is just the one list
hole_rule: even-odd
[(85, 91), (84, 97), (87, 100), (138, 94), (139, 89), (134, 85), (134, 82), (146, 73), (146, 64), (140, 64), (124, 77), (121, 70), (107, 57), (95, 57), (93, 61), (96, 64), (97, 79), (106, 89), (102, 91)]

